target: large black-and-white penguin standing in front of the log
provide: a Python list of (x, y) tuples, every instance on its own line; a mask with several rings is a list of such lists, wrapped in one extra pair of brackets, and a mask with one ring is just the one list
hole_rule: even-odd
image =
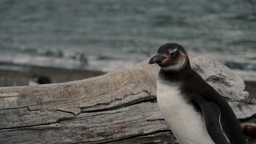
[(228, 102), (190, 67), (184, 47), (159, 47), (149, 64), (161, 68), (157, 80), (159, 109), (179, 143), (246, 144)]

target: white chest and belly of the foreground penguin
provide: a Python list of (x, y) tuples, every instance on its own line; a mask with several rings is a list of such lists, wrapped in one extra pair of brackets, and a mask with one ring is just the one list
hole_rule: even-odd
[(158, 106), (172, 133), (182, 144), (214, 144), (200, 113), (185, 101), (178, 85), (164, 85), (158, 80)]

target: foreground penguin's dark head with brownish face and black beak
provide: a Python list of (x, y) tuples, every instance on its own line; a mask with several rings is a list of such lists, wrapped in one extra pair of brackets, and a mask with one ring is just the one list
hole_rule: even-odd
[(168, 43), (159, 47), (158, 55), (149, 60), (149, 64), (157, 63), (166, 71), (177, 71), (189, 64), (185, 49), (176, 43)]

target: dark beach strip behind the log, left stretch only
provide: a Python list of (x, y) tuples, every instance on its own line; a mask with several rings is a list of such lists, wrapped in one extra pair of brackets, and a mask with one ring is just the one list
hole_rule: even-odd
[[(21, 68), (22, 67), (22, 68)], [(71, 70), (51, 67), (20, 66), (13, 69), (0, 69), (0, 87), (27, 86), (32, 75), (49, 77), (52, 83), (62, 83), (106, 74), (98, 70)]]

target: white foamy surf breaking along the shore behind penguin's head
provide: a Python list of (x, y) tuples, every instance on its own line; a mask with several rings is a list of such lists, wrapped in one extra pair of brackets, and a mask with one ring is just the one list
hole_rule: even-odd
[[(49, 52), (54, 53), (54, 52)], [(64, 53), (64, 52), (61, 52)], [(193, 53), (193, 52), (190, 52)], [(206, 56), (214, 61), (220, 62), (230, 69), (249, 70), (256, 73), (256, 58), (249, 57), (214, 55), (214, 53), (193, 53), (194, 56)], [(73, 52), (69, 55), (40, 55), (31, 56), (27, 54), (0, 55), (0, 65), (31, 65), (36, 67), (63, 68), (74, 70), (99, 70), (110, 71), (114, 69), (130, 67), (133, 64), (146, 61), (151, 56), (149, 53), (101, 53), (100, 55), (85, 55), (84, 53)]]

